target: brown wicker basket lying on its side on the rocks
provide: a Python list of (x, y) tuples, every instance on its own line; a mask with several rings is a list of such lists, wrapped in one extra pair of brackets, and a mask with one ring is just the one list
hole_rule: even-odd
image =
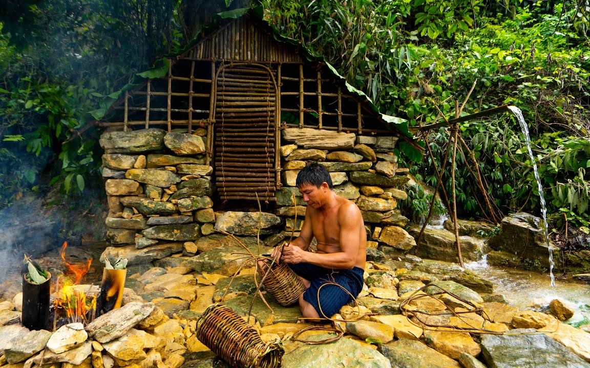
[(234, 310), (211, 304), (196, 321), (196, 338), (234, 368), (278, 368), (284, 350), (265, 344)]

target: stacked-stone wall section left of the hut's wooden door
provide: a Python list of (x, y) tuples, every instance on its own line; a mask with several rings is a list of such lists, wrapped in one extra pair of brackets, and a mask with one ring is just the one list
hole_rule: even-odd
[(156, 128), (102, 135), (106, 238), (120, 247), (109, 254), (143, 250), (150, 260), (183, 249), (195, 254), (192, 241), (214, 231), (205, 135), (204, 129), (188, 134)]

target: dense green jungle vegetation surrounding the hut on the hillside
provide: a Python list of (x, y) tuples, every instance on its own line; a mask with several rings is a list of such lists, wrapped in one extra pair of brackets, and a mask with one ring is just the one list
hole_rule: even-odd
[[(209, 15), (247, 6), (217, 0), (0, 1), (0, 206), (60, 185), (80, 197), (100, 187), (94, 128), (113, 91), (185, 47)], [(256, 5), (256, 4), (255, 4)], [(503, 104), (519, 107), (556, 229), (590, 232), (590, 1), (261, 0), (264, 18), (345, 75), (411, 127)], [(206, 16), (204, 16), (206, 15)], [(113, 96), (111, 96), (113, 97)], [(440, 111), (439, 111), (440, 110)], [(510, 114), (460, 124), (494, 206), (539, 214), (522, 132)], [(428, 132), (434, 163), (400, 160), (436, 183), (448, 128)], [(467, 154), (467, 152), (463, 152)], [(448, 159), (450, 160), (450, 158)], [(417, 161), (417, 162), (414, 162)], [(458, 213), (486, 218), (472, 161), (457, 155)], [(450, 192), (451, 173), (443, 174)], [(411, 190), (410, 211), (428, 210)]]

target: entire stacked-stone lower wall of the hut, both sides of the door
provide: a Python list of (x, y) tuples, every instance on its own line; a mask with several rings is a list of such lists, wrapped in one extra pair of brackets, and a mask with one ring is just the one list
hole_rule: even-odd
[[(305, 203), (295, 186), (307, 162), (320, 162), (332, 176), (335, 191), (355, 201), (365, 220), (368, 246), (385, 254), (407, 251), (414, 238), (403, 229), (398, 200), (408, 178), (393, 150), (396, 137), (287, 128), (281, 140), (281, 183), (274, 213), (213, 210), (213, 168), (205, 165), (207, 131), (194, 134), (150, 128), (106, 132), (100, 139), (109, 215), (107, 241), (111, 257), (140, 264), (182, 253), (195, 256), (197, 244), (218, 231), (256, 236), (274, 246), (301, 229)], [(295, 194), (297, 221), (295, 221)], [(246, 204), (245, 204), (246, 205)], [(244, 208), (246, 211), (247, 208)], [(199, 241), (197, 241), (199, 240)]]

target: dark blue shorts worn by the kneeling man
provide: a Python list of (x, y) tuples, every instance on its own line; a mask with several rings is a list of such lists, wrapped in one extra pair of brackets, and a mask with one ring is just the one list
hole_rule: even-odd
[[(353, 267), (352, 270), (332, 270), (309, 263), (288, 265), (297, 275), (310, 281), (311, 285), (303, 293), (303, 300), (312, 304), (320, 317), (332, 317), (344, 304), (353, 300), (350, 294), (356, 297), (363, 289), (363, 273), (365, 271), (360, 267)], [(336, 283), (339, 286), (328, 283)]]

